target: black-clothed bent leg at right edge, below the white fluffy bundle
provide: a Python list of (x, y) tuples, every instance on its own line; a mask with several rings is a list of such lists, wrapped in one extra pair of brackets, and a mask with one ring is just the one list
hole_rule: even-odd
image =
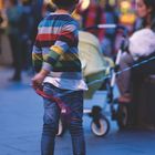
[[(135, 63), (137, 64), (148, 59), (147, 58), (141, 59)], [(140, 115), (140, 111), (142, 110), (140, 94), (142, 93), (143, 83), (146, 80), (146, 78), (151, 74), (155, 74), (154, 66), (155, 66), (155, 60), (151, 60), (151, 61), (146, 61), (145, 63), (141, 63), (141, 65), (137, 65), (136, 68), (132, 69), (132, 94), (133, 94), (133, 103), (134, 103), (132, 105), (133, 125), (137, 125), (140, 123), (138, 115)]]

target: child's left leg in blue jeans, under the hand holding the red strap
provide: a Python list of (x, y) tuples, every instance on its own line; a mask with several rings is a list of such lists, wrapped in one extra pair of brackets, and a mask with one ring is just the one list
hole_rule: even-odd
[[(44, 84), (43, 91), (45, 94), (55, 95), (55, 87), (51, 84)], [(41, 155), (54, 154), (54, 141), (59, 128), (60, 108), (55, 102), (44, 99), (44, 116), (43, 132), (41, 138)]]

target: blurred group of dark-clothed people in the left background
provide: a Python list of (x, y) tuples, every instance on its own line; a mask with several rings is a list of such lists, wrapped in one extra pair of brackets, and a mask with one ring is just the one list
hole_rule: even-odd
[(32, 0), (7, 0), (1, 9), (1, 29), (9, 39), (12, 52), (14, 73), (11, 81), (21, 81), (22, 70), (31, 70), (32, 43), (42, 18), (38, 3)]

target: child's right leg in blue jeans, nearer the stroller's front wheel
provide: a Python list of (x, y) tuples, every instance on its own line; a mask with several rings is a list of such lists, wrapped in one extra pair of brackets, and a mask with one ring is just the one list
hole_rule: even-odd
[(63, 101), (71, 110), (68, 120), (69, 131), (72, 137), (73, 155), (85, 155), (85, 141), (83, 133), (83, 91), (76, 91), (64, 96)]

